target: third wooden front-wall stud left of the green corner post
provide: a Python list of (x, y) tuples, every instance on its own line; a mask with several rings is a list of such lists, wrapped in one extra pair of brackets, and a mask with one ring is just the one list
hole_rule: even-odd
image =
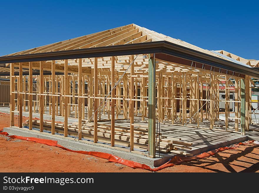
[(97, 58), (94, 58), (94, 143), (97, 143), (97, 107), (99, 106), (99, 99), (98, 97), (98, 61)]

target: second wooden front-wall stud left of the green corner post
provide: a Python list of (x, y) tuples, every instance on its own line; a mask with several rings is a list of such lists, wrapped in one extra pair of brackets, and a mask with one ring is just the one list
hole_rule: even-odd
[[(114, 87), (115, 84), (115, 57), (112, 56), (112, 64), (111, 64), (111, 78), (112, 78), (112, 84), (111, 84), (111, 88)], [(114, 146), (114, 134), (115, 134), (115, 129), (114, 129), (114, 124), (115, 124), (115, 88), (112, 90), (112, 96), (111, 96), (111, 146)]]

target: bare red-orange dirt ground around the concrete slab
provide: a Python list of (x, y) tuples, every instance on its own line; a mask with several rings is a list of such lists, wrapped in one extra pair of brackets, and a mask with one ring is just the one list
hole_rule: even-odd
[[(14, 119), (17, 126), (18, 117)], [(24, 117), (23, 122), (26, 119)], [(9, 122), (9, 115), (0, 113), (0, 129), (8, 127)], [(150, 172), (4, 135), (0, 135), (0, 148), (0, 172)], [(241, 145), (159, 172), (259, 172), (259, 145)]]

